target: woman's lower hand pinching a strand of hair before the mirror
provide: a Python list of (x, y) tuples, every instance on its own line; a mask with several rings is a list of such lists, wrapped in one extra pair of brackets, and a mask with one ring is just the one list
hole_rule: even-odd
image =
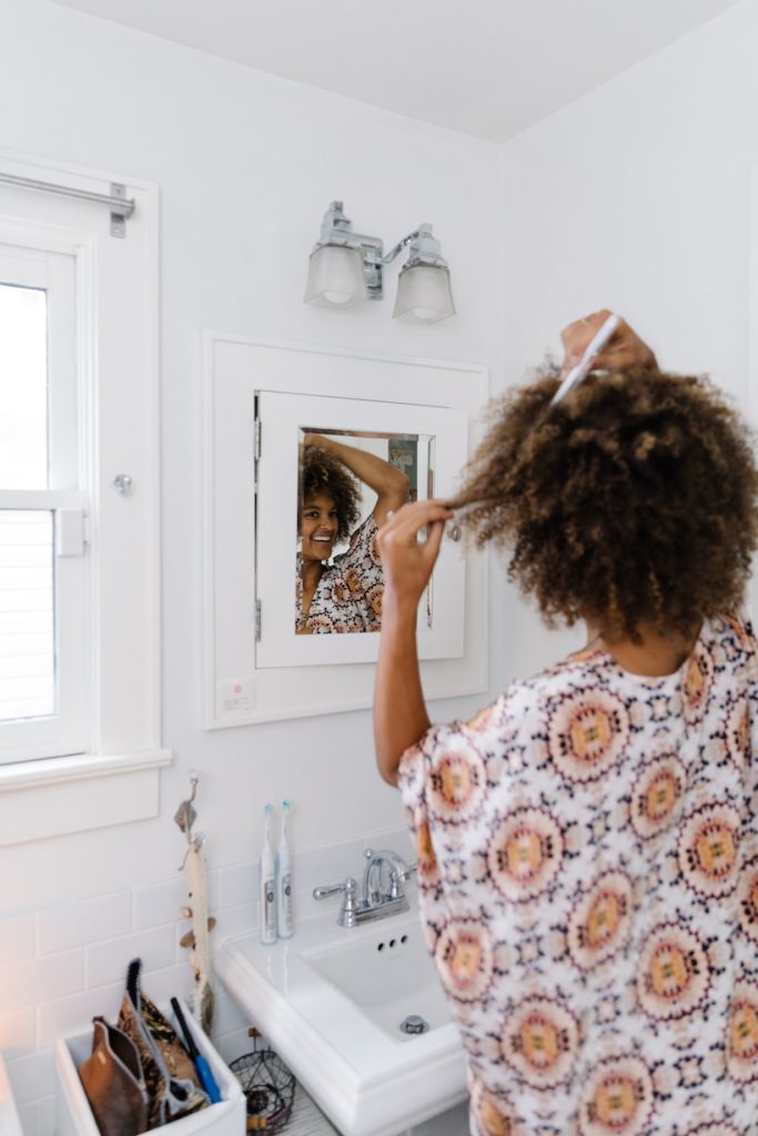
[[(452, 510), (444, 501), (403, 504), (392, 513), (376, 537), (384, 571), (384, 609), (393, 600), (418, 604), (440, 554), (445, 520)], [(426, 529), (426, 540), (418, 534)]]

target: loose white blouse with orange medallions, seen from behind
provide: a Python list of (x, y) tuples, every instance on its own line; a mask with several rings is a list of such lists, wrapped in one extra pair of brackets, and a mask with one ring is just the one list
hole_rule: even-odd
[(586, 649), (403, 755), (474, 1136), (758, 1134), (757, 651)]

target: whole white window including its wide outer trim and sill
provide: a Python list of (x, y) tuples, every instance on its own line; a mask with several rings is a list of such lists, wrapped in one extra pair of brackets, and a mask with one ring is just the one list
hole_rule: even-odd
[[(118, 192), (108, 175), (9, 153), (0, 175)], [(145, 772), (170, 758), (159, 715), (157, 191), (126, 184), (135, 211), (114, 235), (107, 204), (2, 176), (0, 844), (153, 816)], [(68, 785), (65, 809), (30, 792), (108, 772), (118, 785), (99, 783), (98, 816), (91, 792)]]

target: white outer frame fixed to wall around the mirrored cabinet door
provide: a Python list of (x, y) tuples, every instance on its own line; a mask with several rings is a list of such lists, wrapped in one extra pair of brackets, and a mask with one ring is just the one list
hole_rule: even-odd
[[(351, 349), (203, 336), (203, 648), (206, 728), (218, 729), (370, 705), (374, 661), (350, 661), (345, 640), (320, 635), (311, 648), (328, 665), (256, 665), (255, 392), (369, 400), (447, 411), (468, 425), (468, 453), (488, 398), (484, 367)], [(265, 427), (264, 427), (265, 431)], [(264, 442), (265, 444), (265, 442)], [(294, 453), (293, 445), (293, 453)], [(448, 491), (448, 486), (442, 487)], [(295, 502), (286, 502), (294, 516)], [(460, 546), (459, 546), (460, 548)], [(260, 556), (260, 550), (258, 550)], [(294, 554), (292, 562), (294, 584)], [(460, 578), (460, 576), (458, 577)], [(466, 553), (464, 594), (443, 598), (464, 610), (458, 658), (422, 662), (428, 699), (488, 690), (488, 558)], [(439, 598), (435, 596), (435, 602)], [(342, 641), (342, 644), (340, 644)]]

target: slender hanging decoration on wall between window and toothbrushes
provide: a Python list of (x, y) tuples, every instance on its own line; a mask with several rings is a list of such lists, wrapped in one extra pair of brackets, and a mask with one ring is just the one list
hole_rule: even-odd
[(202, 846), (206, 837), (202, 833), (193, 833), (198, 819), (193, 805), (198, 792), (199, 776), (190, 774), (190, 796), (182, 801), (174, 815), (174, 820), (186, 836), (188, 850), (180, 871), (186, 868), (189, 905), (182, 908), (182, 916), (192, 920), (192, 929), (180, 939), (180, 946), (189, 947), (192, 953), (190, 962), (194, 971), (194, 989), (192, 1011), (200, 1026), (210, 1034), (214, 1024), (214, 992), (210, 971), (210, 932), (216, 926), (213, 916), (208, 917), (208, 889), (206, 885), (206, 863)]

